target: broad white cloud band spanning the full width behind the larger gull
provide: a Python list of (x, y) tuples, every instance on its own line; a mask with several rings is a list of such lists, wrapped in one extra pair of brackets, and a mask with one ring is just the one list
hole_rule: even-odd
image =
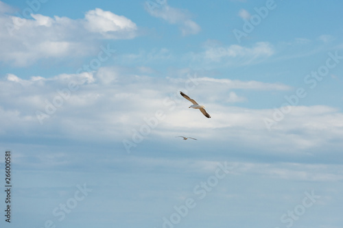
[[(5, 116), (2, 134), (62, 134), (77, 140), (115, 139), (120, 143), (131, 140), (134, 131), (146, 125), (146, 119), (162, 110), (165, 118), (147, 139), (154, 136), (168, 140), (182, 133), (287, 154), (311, 150), (316, 153), (343, 136), (343, 114), (324, 105), (290, 106), (292, 112), (272, 131), (267, 130), (263, 119), (272, 118), (274, 110), (233, 106), (249, 100), (240, 91), (289, 90), (283, 84), (196, 75), (154, 79), (144, 72), (142, 68), (128, 71), (105, 67), (92, 73), (27, 80), (8, 74), (0, 83), (0, 110)], [(179, 96), (179, 90), (206, 104), (213, 118), (207, 120), (198, 110), (188, 109), (189, 101)], [(339, 146), (341, 142), (337, 141), (331, 149), (335, 151)]]

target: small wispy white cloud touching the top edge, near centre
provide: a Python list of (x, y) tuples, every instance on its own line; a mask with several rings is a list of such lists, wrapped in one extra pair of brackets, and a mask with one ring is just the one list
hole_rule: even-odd
[(191, 14), (189, 14), (187, 10), (172, 8), (167, 5), (167, 1), (164, 1), (164, 3), (159, 5), (157, 5), (157, 3), (151, 5), (150, 1), (146, 1), (145, 10), (147, 10), (150, 15), (162, 18), (170, 24), (179, 25), (182, 36), (198, 34), (201, 30), (201, 27), (191, 20)]

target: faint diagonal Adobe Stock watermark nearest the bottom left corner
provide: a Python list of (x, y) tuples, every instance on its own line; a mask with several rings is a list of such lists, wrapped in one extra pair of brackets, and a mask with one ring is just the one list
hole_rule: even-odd
[[(70, 214), (75, 207), (78, 206), (78, 203), (83, 201), (88, 196), (89, 192), (93, 191), (93, 189), (87, 188), (86, 183), (84, 183), (83, 186), (77, 185), (76, 188), (78, 188), (78, 190), (74, 192), (73, 197), (67, 199), (65, 203), (60, 203), (58, 207), (55, 207), (54, 210), (52, 210), (52, 215), (57, 218), (58, 222), (62, 222), (62, 220), (66, 218), (66, 214)], [(45, 220), (43, 228), (56, 227), (56, 221)]]

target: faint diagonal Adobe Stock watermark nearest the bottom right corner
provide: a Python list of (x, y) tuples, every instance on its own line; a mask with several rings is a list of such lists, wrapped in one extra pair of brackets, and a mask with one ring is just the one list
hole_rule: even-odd
[[(314, 194), (314, 190), (311, 190), (311, 193), (305, 192), (305, 197), (300, 204), (296, 205), (293, 210), (287, 210), (287, 213), (283, 214), (280, 217), (281, 223), (285, 224), (287, 228), (290, 228), (294, 225), (294, 221), (300, 219), (300, 216), (303, 216), (307, 210), (320, 199), (319, 195)], [(280, 227), (275, 227), (280, 228)]]

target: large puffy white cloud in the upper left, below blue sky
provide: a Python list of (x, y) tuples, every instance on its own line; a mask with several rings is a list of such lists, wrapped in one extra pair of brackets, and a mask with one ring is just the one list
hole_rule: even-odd
[(97, 40), (131, 39), (137, 25), (125, 16), (99, 8), (82, 19), (32, 14), (33, 19), (0, 12), (0, 62), (27, 66), (40, 59), (96, 54)]

